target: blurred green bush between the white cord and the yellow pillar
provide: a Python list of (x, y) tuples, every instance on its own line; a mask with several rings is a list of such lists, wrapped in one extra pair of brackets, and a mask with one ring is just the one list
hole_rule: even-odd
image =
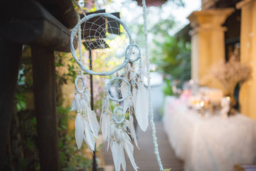
[(178, 86), (181, 86), (184, 81), (191, 78), (191, 45), (183, 39), (177, 40), (175, 36), (165, 36), (163, 42), (155, 43), (156, 48), (151, 61), (164, 73), (164, 94), (172, 95), (171, 82), (178, 80)]

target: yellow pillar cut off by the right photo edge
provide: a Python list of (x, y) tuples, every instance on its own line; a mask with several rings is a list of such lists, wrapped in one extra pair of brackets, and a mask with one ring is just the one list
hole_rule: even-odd
[(240, 110), (256, 120), (256, 1), (240, 1), (236, 7), (241, 9), (240, 62), (252, 68), (252, 78), (240, 88)]

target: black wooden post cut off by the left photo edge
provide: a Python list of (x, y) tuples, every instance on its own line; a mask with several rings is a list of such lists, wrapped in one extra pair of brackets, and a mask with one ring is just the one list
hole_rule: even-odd
[(11, 115), (14, 112), (21, 51), (22, 44), (10, 43), (0, 34), (0, 170), (4, 165)]

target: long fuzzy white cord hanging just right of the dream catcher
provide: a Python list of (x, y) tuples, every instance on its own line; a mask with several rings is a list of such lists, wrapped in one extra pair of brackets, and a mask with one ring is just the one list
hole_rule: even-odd
[(148, 83), (148, 90), (149, 90), (149, 116), (150, 116), (150, 124), (152, 127), (152, 137), (154, 142), (154, 153), (156, 155), (156, 160), (159, 164), (160, 170), (164, 170), (163, 165), (161, 164), (161, 158), (159, 155), (159, 149), (157, 144), (156, 138), (156, 126), (154, 124), (154, 113), (152, 107), (152, 100), (151, 100), (151, 82), (150, 82), (150, 69), (149, 69), (149, 51), (148, 51), (148, 35), (147, 35), (147, 28), (146, 28), (146, 1), (142, 0), (143, 5), (143, 19), (144, 19), (144, 37), (145, 37), (145, 50), (146, 50), (146, 73), (149, 76), (147, 80)]

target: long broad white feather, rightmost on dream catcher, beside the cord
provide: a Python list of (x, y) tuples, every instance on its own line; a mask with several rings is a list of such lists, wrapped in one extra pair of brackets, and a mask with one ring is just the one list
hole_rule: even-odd
[(135, 115), (139, 124), (139, 127), (146, 131), (149, 125), (149, 101), (146, 88), (143, 83), (138, 84), (138, 91), (135, 105)]

